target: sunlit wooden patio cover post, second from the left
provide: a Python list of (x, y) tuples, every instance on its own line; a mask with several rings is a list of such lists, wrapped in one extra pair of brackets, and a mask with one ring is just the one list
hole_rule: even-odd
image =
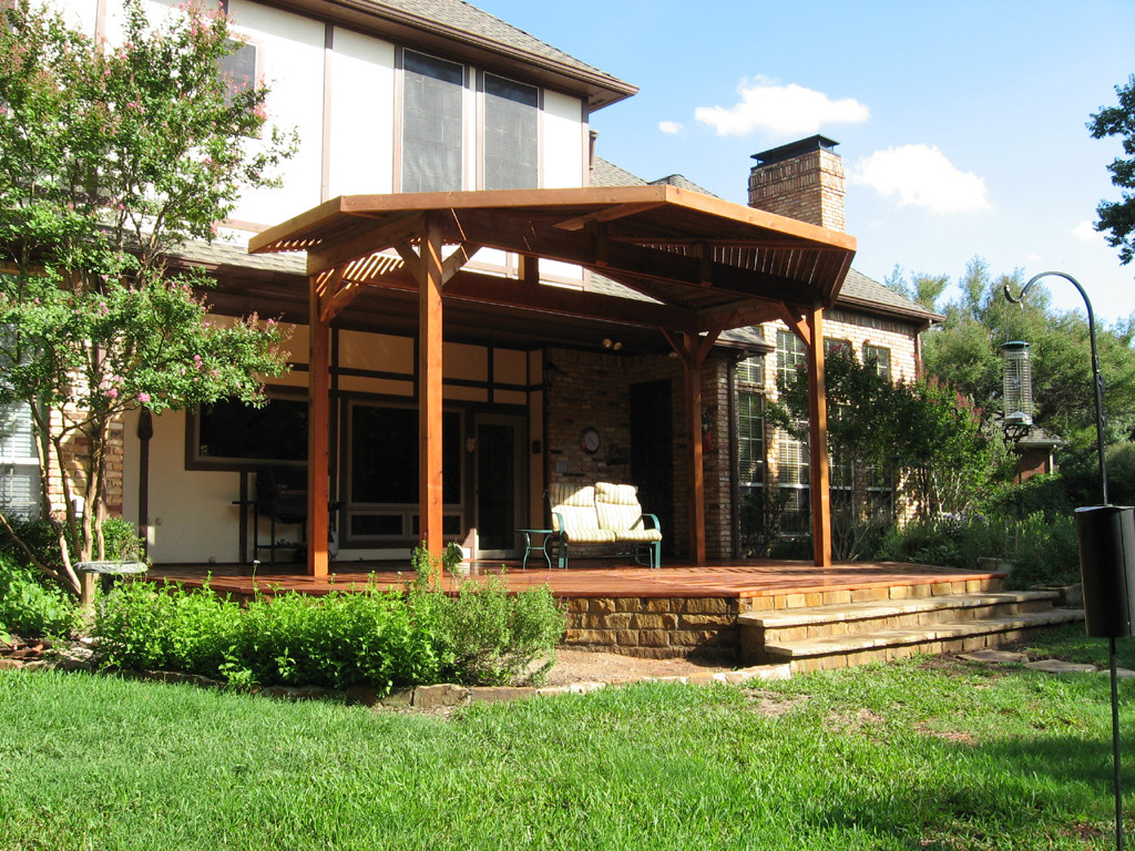
[(426, 217), (418, 267), (418, 431), (420, 447), (418, 511), (421, 538), (434, 557), (442, 555), (442, 222)]

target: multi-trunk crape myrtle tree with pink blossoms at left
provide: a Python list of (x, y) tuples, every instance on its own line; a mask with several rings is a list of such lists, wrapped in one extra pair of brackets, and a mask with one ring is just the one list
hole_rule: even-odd
[(167, 256), (212, 239), (295, 140), (266, 126), (266, 86), (220, 73), (238, 44), (217, 11), (151, 25), (126, 0), (114, 48), (32, 3), (0, 15), (0, 403), (31, 410), (62, 558), (26, 553), (77, 592), (76, 563), (103, 557), (121, 414), (258, 404), (258, 376), (284, 369), (275, 321), (211, 317), (209, 280)]

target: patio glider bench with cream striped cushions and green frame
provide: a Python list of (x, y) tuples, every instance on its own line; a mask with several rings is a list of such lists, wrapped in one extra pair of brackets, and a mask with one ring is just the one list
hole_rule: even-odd
[(633, 485), (557, 482), (548, 489), (552, 529), (560, 566), (568, 566), (572, 545), (609, 544), (637, 564), (662, 565), (662, 524), (644, 514)]

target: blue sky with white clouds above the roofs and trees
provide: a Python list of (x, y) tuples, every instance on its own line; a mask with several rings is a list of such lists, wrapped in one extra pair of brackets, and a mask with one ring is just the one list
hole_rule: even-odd
[[(848, 174), (855, 267), (962, 276), (975, 255), (1075, 277), (1135, 312), (1135, 266), (1092, 230), (1118, 200), (1092, 112), (1135, 74), (1135, 2), (473, 0), (632, 83), (592, 116), (599, 154), (746, 203), (750, 154), (822, 133)], [(1083, 301), (1050, 279), (1060, 307)]]

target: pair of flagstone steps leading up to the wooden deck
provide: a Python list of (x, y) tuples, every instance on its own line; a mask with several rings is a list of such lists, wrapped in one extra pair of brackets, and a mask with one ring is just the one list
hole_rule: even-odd
[(789, 663), (801, 672), (998, 647), (1084, 618), (1083, 609), (1053, 608), (1056, 598), (1051, 591), (965, 593), (746, 613), (738, 618), (742, 664)]

